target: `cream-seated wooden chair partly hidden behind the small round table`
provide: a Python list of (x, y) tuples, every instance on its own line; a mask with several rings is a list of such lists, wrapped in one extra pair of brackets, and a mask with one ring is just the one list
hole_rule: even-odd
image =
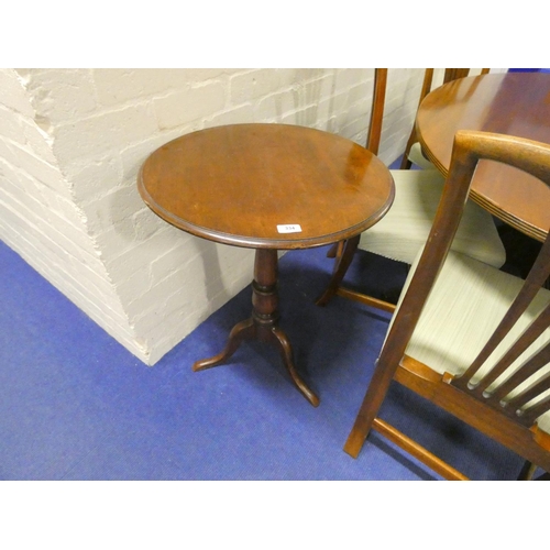
[[(378, 153), (384, 118), (387, 69), (376, 69), (366, 148)], [(395, 182), (395, 200), (386, 216), (364, 233), (361, 248), (369, 252), (411, 264), (428, 238), (441, 197), (444, 178), (437, 169), (391, 170)], [(395, 304), (374, 299), (341, 286), (360, 237), (339, 243), (329, 252), (336, 257), (332, 278), (317, 299), (324, 306), (338, 294), (364, 304), (393, 311)], [(453, 249), (495, 267), (506, 261), (506, 252), (491, 215), (469, 201)]]

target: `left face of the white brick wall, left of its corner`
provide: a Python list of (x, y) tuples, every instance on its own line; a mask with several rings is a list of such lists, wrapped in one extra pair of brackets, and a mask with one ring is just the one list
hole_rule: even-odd
[(24, 78), (2, 69), (0, 81), (0, 238), (99, 324), (120, 326), (113, 336), (135, 348)]

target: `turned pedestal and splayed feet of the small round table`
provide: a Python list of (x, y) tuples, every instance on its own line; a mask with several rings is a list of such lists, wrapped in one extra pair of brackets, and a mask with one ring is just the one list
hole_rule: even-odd
[(285, 367), (298, 391), (314, 407), (317, 407), (319, 398), (296, 372), (290, 342), (278, 327), (277, 263), (276, 250), (256, 250), (254, 280), (252, 282), (252, 317), (233, 327), (221, 353), (210, 359), (197, 361), (193, 365), (193, 370), (204, 371), (222, 364), (245, 339), (268, 342), (278, 348)]

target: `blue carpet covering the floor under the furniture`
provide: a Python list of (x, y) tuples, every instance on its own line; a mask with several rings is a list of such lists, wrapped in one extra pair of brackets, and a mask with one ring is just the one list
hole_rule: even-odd
[[(0, 479), (438, 479), (377, 435), (358, 460), (342, 451), (388, 315), (338, 297), (316, 307), (331, 262), (315, 249), (279, 265), (280, 323), (314, 408), (267, 344), (191, 372), (249, 317), (250, 288), (147, 367), (0, 242)], [(349, 278), (391, 296), (405, 275), (361, 252)], [(522, 464), (403, 388), (383, 416), (474, 479), (514, 479)]]

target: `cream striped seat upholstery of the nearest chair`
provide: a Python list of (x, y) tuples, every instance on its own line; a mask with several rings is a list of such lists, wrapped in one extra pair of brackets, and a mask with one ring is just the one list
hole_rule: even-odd
[[(419, 256), (420, 254), (413, 264), (402, 293), (402, 299)], [(496, 329), (522, 283), (520, 278), (495, 270), (487, 264), (463, 254), (450, 252), (426, 302), (406, 354), (440, 374), (446, 372), (453, 375), (463, 373)], [(396, 312), (400, 307), (402, 299), (397, 304)], [(483, 372), (487, 372), (502, 355), (502, 350), (509, 346), (549, 302), (550, 290), (540, 289), (524, 317), (482, 367), (480, 376)], [(488, 391), (515, 371), (522, 360), (529, 358), (534, 351), (539, 350), (548, 342), (550, 342), (550, 328), (510, 365), (501, 378), (495, 381), (493, 386), (488, 387)], [(547, 365), (543, 372), (548, 373), (549, 371), (550, 365)], [(536, 376), (542, 375), (538, 373)], [(530, 385), (531, 382), (528, 380), (520, 388), (527, 384)], [(539, 427), (550, 433), (550, 413), (546, 413), (539, 418)]]

